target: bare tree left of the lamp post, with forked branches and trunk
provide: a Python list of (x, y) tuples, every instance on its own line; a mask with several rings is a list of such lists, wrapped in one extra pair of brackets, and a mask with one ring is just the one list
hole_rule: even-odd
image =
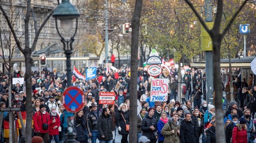
[[(48, 15), (45, 17), (44, 21), (40, 26), (38, 26), (36, 22), (36, 17), (33, 12), (33, 8), (31, 7), (31, 0), (26, 1), (26, 12), (25, 12), (25, 30), (24, 30), (24, 35), (25, 35), (25, 47), (21, 45), (20, 39), (17, 37), (16, 31), (14, 26), (11, 24), (11, 18), (7, 14), (7, 11), (3, 8), (3, 5), (0, 5), (0, 10), (3, 12), (3, 16), (5, 17), (8, 27), (10, 28), (11, 33), (13, 34), (14, 41), (16, 43), (16, 46), (20, 49), (22, 54), (25, 57), (25, 63), (26, 63), (26, 73), (25, 73), (25, 81), (26, 81), (26, 112), (27, 112), (27, 122), (31, 123), (32, 122), (32, 89), (31, 89), (31, 64), (32, 64), (32, 57), (31, 54), (35, 49), (36, 43), (38, 41), (40, 32), (48, 19), (52, 16), (53, 10), (50, 10), (48, 12)], [(29, 21), (30, 18), (33, 17), (33, 23), (34, 23), (34, 40), (32, 42), (32, 46), (29, 47)], [(26, 124), (26, 142), (31, 142), (31, 135), (32, 135), (32, 124)]]

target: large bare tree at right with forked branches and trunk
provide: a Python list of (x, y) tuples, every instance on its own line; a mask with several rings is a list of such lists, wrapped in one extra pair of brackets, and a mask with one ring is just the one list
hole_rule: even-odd
[(214, 87), (215, 87), (215, 106), (216, 106), (216, 133), (217, 138), (216, 142), (225, 142), (225, 133), (223, 128), (223, 108), (222, 108), (222, 83), (221, 83), (221, 68), (220, 68), (220, 59), (221, 59), (221, 42), (231, 27), (232, 23), (234, 22), (236, 16), (239, 14), (239, 12), (242, 10), (243, 6), (246, 5), (248, 0), (243, 1), (239, 9), (235, 12), (233, 17), (230, 19), (229, 23), (225, 26), (224, 30), (221, 32), (221, 21), (222, 21), (222, 14), (223, 14), (223, 1), (218, 0), (217, 1), (217, 13), (215, 16), (215, 22), (214, 27), (212, 29), (209, 29), (207, 25), (205, 24), (203, 18), (200, 16), (196, 8), (193, 6), (193, 4), (190, 2), (190, 0), (185, 0), (185, 2), (190, 6), (190, 8), (193, 10), (194, 14), (196, 14), (197, 18), (199, 19), (200, 23), (202, 23), (205, 30), (209, 33), (212, 39), (212, 46), (214, 49)]

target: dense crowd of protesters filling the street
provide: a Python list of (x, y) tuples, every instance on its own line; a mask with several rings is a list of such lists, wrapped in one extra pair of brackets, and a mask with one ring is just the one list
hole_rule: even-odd
[[(32, 102), (33, 102), (33, 137), (41, 137), (44, 142), (56, 143), (65, 140), (68, 133), (68, 118), (74, 116), (76, 140), (92, 142), (100, 140), (115, 142), (117, 134), (121, 135), (121, 143), (127, 143), (129, 138), (129, 109), (130, 109), (130, 72), (129, 69), (119, 69), (106, 73), (104, 69), (97, 69), (97, 77), (93, 80), (80, 80), (72, 76), (72, 85), (80, 88), (86, 98), (83, 108), (76, 112), (67, 112), (62, 103), (62, 94), (66, 89), (65, 74), (43, 71), (41, 75), (32, 73)], [(190, 73), (191, 72), (191, 73)], [(168, 100), (150, 101), (151, 77), (145, 70), (138, 71), (138, 96), (141, 111), (137, 116), (138, 142), (195, 142), (200, 138), (202, 142), (216, 142), (215, 106), (201, 100), (204, 89), (201, 89), (200, 70), (186, 70), (182, 80), (181, 101), (177, 100), (177, 73), (171, 70), (169, 79)], [(21, 76), (21, 75), (19, 75)], [(196, 81), (191, 81), (196, 76)], [(239, 77), (235, 77), (234, 86)], [(7, 108), (8, 76), (0, 77), (0, 108)], [(191, 82), (193, 87), (191, 89)], [(244, 81), (245, 82), (245, 81)], [(244, 83), (243, 82), (243, 83)], [(240, 82), (239, 82), (240, 83)], [(240, 85), (238, 85), (240, 86)], [(254, 104), (256, 86), (252, 88), (245, 84), (240, 86), (241, 94), (237, 94), (235, 101), (229, 102), (227, 111), (223, 109), (225, 137), (227, 142), (253, 142), (256, 124)], [(17, 113), (15, 119), (15, 142), (25, 142), (22, 134), (21, 122), (26, 122), (26, 85), (16, 85), (10, 89), (12, 107), (21, 109), (23, 121)], [(114, 92), (113, 105), (99, 105), (100, 92)], [(239, 104), (237, 104), (237, 101)], [(240, 105), (239, 107), (237, 107)], [(29, 107), (30, 108), (30, 107)], [(4, 112), (4, 121), (0, 143), (9, 142), (9, 113)], [(135, 120), (135, 119), (134, 119)], [(30, 123), (29, 123), (30, 124)]]

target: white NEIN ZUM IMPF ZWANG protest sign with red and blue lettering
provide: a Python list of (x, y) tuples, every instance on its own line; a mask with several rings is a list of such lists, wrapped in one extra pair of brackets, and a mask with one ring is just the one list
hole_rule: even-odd
[(150, 101), (167, 101), (169, 79), (152, 79)]

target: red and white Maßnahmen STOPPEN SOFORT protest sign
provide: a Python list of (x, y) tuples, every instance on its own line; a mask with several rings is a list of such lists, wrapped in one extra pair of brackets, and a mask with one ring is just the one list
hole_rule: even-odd
[(100, 92), (99, 104), (113, 105), (115, 103), (114, 92)]

